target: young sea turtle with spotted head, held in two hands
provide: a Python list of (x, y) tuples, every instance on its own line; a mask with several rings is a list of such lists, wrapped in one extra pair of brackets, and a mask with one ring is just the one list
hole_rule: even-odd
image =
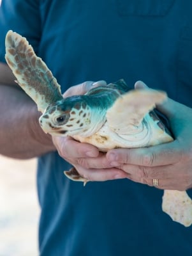
[[(124, 80), (92, 88), (85, 95), (63, 99), (61, 88), (26, 38), (8, 31), (6, 61), (17, 83), (43, 113), (40, 125), (52, 135), (71, 136), (101, 151), (110, 148), (149, 147), (173, 140), (152, 109), (166, 100), (165, 92), (130, 90)], [(72, 168), (72, 180), (87, 182)], [(182, 225), (192, 223), (192, 201), (186, 191), (165, 190), (163, 211)]]

